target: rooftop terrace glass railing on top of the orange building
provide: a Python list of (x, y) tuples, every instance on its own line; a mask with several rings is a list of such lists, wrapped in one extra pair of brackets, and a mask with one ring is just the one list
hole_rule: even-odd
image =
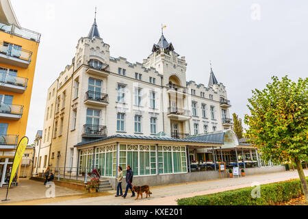
[(0, 31), (15, 36), (21, 36), (22, 38), (26, 38), (28, 40), (40, 42), (40, 34), (36, 33), (35, 31), (25, 29), (23, 27), (17, 27), (16, 25), (7, 25), (5, 23), (0, 23)]

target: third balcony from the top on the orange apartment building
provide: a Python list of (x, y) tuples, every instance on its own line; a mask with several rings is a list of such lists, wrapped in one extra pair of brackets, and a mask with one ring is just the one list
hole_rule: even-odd
[(0, 118), (18, 120), (23, 116), (23, 105), (0, 103)]

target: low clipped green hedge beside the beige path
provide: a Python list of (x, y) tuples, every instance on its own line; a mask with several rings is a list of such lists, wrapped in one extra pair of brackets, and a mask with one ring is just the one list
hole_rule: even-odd
[[(308, 181), (308, 177), (306, 178)], [(273, 205), (290, 201), (303, 194), (303, 188), (299, 179), (282, 181), (260, 185), (261, 197), (253, 198), (251, 191), (254, 189), (241, 188), (229, 190), (204, 196), (194, 196), (192, 198), (181, 198), (177, 200), (178, 205)]]

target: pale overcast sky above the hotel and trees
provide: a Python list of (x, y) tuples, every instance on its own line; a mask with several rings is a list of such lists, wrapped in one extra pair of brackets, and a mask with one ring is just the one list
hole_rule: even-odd
[(186, 79), (207, 85), (209, 60), (227, 88), (231, 114), (244, 118), (251, 90), (272, 75), (291, 79), (308, 73), (308, 2), (283, 0), (81, 1), (11, 0), (22, 27), (42, 34), (27, 136), (32, 143), (44, 123), (47, 89), (71, 63), (77, 40), (97, 25), (110, 55), (142, 62), (160, 37), (188, 62)]

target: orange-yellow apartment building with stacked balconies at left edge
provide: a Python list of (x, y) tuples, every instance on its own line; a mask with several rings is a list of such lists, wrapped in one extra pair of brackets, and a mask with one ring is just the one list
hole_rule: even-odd
[(0, 187), (26, 133), (39, 42), (40, 34), (19, 25), (10, 1), (0, 1)]

